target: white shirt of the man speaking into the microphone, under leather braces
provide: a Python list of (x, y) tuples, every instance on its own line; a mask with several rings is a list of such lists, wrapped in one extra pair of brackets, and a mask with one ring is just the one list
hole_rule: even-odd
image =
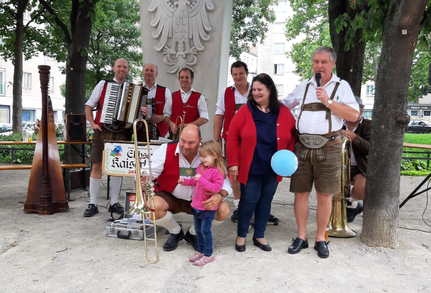
[[(332, 74), (332, 78), (328, 81), (323, 87), (328, 94), (328, 97), (331, 97), (332, 90), (334, 90), (335, 84), (337, 81), (340, 81), (340, 78), (337, 77), (334, 73)], [(321, 103), (320, 100), (317, 99), (316, 96), (316, 80), (314, 76), (308, 80), (304, 80), (301, 84), (295, 88), (292, 93), (290, 93), (287, 97), (281, 100), (281, 103), (289, 107), (289, 109), (293, 109), (298, 106), (298, 109), (301, 109), (302, 100), (304, 97), (304, 92), (307, 84), (309, 85), (308, 92), (305, 98), (305, 104), (308, 103)], [(351, 108), (359, 111), (359, 105), (356, 103), (355, 97), (353, 96), (352, 89), (347, 81), (341, 80), (340, 85), (337, 88), (337, 92), (334, 96), (334, 102), (344, 104), (350, 106)], [(298, 113), (299, 116), (299, 113)], [(300, 133), (308, 133), (308, 134), (325, 134), (328, 133), (328, 125), (329, 120), (325, 119), (326, 111), (304, 111), (299, 119), (299, 126), (296, 123), (296, 127)], [(340, 118), (334, 112), (331, 111), (331, 121), (332, 128), (331, 131), (337, 131), (341, 129), (343, 126), (343, 118)], [(329, 132), (331, 132), (329, 131)]]

